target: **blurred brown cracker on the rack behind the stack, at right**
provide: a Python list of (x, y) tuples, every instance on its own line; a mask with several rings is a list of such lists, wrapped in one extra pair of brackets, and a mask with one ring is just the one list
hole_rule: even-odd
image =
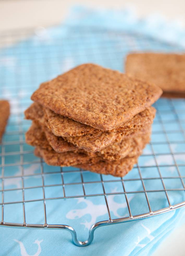
[(127, 56), (125, 70), (128, 75), (158, 85), (164, 92), (180, 93), (185, 92), (184, 66), (185, 54), (132, 53)]

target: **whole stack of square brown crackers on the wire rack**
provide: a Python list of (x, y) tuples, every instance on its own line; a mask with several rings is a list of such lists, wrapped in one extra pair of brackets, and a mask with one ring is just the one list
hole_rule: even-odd
[(49, 165), (124, 176), (150, 141), (151, 105), (161, 94), (155, 85), (83, 64), (33, 93), (26, 142)]

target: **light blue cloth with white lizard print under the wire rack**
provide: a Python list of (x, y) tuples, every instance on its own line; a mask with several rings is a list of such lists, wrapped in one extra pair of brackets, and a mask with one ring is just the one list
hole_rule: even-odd
[[(123, 71), (128, 52), (183, 52), (184, 38), (180, 27), (152, 16), (138, 20), (129, 10), (77, 7), (65, 24), (38, 28), (32, 37), (0, 49), (0, 95), (11, 103), (11, 116), (0, 147), (0, 206), (4, 204), (4, 222), (23, 223), (24, 193), (26, 223), (44, 224), (43, 184), (47, 224), (70, 225), (81, 241), (88, 238), (94, 223), (109, 219), (103, 189), (111, 218), (129, 216), (121, 178), (71, 167), (63, 168), (61, 173), (59, 167), (48, 166), (35, 157), (33, 147), (24, 141), (31, 122), (24, 120), (23, 111), (41, 82), (78, 64), (93, 62)], [(164, 186), (171, 205), (185, 201), (185, 101), (160, 99), (155, 107), (158, 112), (151, 144), (139, 158), (140, 169), (135, 165), (123, 178), (133, 216), (149, 212), (144, 186), (152, 211), (169, 206)], [(64, 192), (65, 197), (71, 198), (64, 199)], [(75, 195), (82, 197), (74, 198)], [(100, 227), (87, 247), (75, 246), (71, 234), (62, 230), (0, 227), (0, 255), (152, 255), (163, 239), (184, 222), (184, 213), (181, 208)]]

